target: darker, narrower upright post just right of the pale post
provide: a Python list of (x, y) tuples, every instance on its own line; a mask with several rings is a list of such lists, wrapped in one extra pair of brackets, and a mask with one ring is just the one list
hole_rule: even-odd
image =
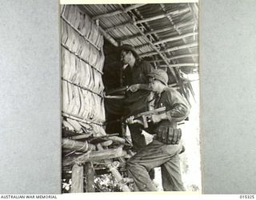
[(92, 162), (85, 163), (85, 179), (86, 179), (86, 192), (95, 192), (95, 184), (94, 184), (94, 165)]

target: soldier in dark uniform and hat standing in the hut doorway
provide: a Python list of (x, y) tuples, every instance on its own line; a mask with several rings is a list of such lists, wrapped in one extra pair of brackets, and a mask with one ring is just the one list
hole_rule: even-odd
[[(150, 101), (150, 84), (147, 74), (154, 70), (154, 67), (139, 59), (134, 46), (121, 46), (121, 61), (124, 65), (122, 69), (122, 85), (128, 86), (126, 99), (124, 102), (125, 115), (130, 116), (148, 110)], [(139, 124), (130, 124), (129, 130), (134, 146), (138, 151), (146, 146), (146, 139), (142, 134), (142, 126)]]

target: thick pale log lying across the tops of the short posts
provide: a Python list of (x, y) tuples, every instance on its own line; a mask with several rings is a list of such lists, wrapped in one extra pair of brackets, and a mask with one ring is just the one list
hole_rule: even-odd
[(77, 163), (100, 161), (103, 159), (118, 158), (126, 155), (126, 151), (122, 150), (122, 147), (110, 150), (98, 150), (88, 151), (82, 155), (70, 155), (64, 157), (62, 160), (62, 166), (69, 166)]

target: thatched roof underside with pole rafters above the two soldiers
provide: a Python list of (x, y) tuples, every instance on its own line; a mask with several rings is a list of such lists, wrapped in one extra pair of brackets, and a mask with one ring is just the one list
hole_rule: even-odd
[[(135, 46), (141, 58), (165, 68), (171, 86), (186, 98), (193, 94), (186, 75), (198, 73), (198, 4), (81, 5), (106, 38), (104, 73), (106, 89), (117, 86), (122, 44)], [(103, 77), (104, 79), (104, 77)], [(111, 81), (110, 81), (111, 80)]]

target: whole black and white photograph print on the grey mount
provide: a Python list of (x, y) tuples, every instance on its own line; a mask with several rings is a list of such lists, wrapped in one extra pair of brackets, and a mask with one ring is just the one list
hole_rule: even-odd
[(202, 193), (198, 12), (61, 5), (62, 193)]

